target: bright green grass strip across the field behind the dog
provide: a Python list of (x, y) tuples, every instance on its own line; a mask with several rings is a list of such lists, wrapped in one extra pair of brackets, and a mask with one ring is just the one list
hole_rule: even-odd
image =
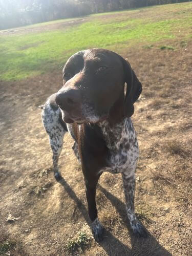
[[(173, 10), (174, 6), (177, 12), (186, 9), (186, 4), (168, 5), (167, 9), (169, 7)], [(192, 7), (191, 4), (187, 6), (189, 9)], [(167, 10), (164, 10), (164, 6), (152, 9), (158, 14), (161, 8)], [(1, 36), (0, 79), (19, 80), (58, 69), (69, 56), (82, 49), (96, 47), (119, 52), (122, 45), (126, 48), (151, 45), (154, 42), (162, 45), (166, 39), (177, 39), (179, 30), (182, 33), (189, 31), (191, 22), (188, 12), (183, 12), (179, 18), (174, 16), (174, 12), (166, 17), (159, 15), (157, 20), (148, 15), (139, 17), (141, 10), (146, 11), (136, 9), (114, 12), (113, 16), (93, 15), (82, 24), (77, 23), (72, 27)], [(57, 22), (61, 23), (61, 20)], [(56, 21), (47, 24), (53, 23)], [(38, 24), (38, 28), (41, 25)], [(183, 41), (186, 42), (189, 36), (190, 33), (186, 33)]]

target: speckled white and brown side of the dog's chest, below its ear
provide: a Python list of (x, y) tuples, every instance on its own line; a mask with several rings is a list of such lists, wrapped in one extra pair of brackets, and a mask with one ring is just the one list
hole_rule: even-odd
[(108, 166), (101, 171), (117, 174), (131, 169), (139, 157), (137, 137), (131, 118), (125, 118), (113, 127), (110, 127), (108, 121), (103, 121), (99, 126), (110, 152)]

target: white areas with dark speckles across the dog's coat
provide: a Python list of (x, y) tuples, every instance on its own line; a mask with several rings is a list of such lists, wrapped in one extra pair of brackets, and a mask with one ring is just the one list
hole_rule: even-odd
[[(71, 131), (71, 125), (63, 123), (61, 119), (61, 110), (57, 108), (53, 97), (48, 99), (42, 111), (42, 121), (49, 134), (50, 145), (53, 152), (54, 175), (57, 180), (60, 178), (58, 159), (62, 150), (63, 137), (67, 131), (75, 139)], [(94, 125), (95, 126), (95, 125)], [(134, 211), (134, 191), (135, 191), (135, 168), (139, 158), (139, 147), (136, 132), (131, 118), (125, 118), (122, 122), (111, 127), (108, 121), (98, 124), (101, 129), (106, 146), (109, 148), (109, 154), (106, 159), (106, 166), (98, 169), (98, 175), (103, 172), (122, 175), (123, 189), (125, 194), (127, 217), (130, 220), (131, 227), (135, 233), (145, 236), (145, 230), (137, 220)], [(79, 149), (76, 140), (73, 143), (73, 151), (80, 162)], [(102, 225), (98, 217), (92, 222), (92, 230), (97, 240), (100, 240)]]

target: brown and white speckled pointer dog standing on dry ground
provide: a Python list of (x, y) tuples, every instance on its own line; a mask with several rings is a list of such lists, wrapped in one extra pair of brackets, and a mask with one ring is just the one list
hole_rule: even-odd
[(57, 181), (62, 178), (58, 159), (63, 136), (69, 132), (74, 139), (72, 148), (81, 162), (96, 241), (102, 240), (103, 233), (95, 202), (96, 185), (103, 172), (122, 175), (131, 229), (135, 236), (147, 237), (134, 210), (139, 148), (131, 116), (141, 91), (141, 82), (129, 62), (109, 50), (89, 49), (68, 59), (62, 88), (48, 98), (42, 110)]

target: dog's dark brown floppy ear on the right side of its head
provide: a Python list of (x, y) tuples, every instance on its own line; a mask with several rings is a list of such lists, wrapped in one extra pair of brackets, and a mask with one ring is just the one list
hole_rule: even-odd
[(142, 92), (142, 84), (138, 80), (135, 72), (132, 70), (131, 65), (122, 58), (124, 76), (126, 82), (126, 94), (124, 100), (124, 116), (131, 117), (134, 113), (134, 103), (139, 98)]

